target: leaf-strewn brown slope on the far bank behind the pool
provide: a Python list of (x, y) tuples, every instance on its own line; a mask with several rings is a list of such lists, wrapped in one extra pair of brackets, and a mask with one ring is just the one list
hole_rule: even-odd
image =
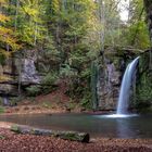
[(31, 114), (31, 113), (66, 113), (66, 112), (92, 112), (86, 110), (78, 102), (74, 102), (66, 96), (63, 89), (49, 94), (41, 94), (17, 102), (17, 105), (4, 106), (4, 114)]

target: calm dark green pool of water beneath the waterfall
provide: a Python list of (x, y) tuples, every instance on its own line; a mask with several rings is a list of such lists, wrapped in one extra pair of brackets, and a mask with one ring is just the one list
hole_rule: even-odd
[(152, 115), (23, 114), (0, 115), (0, 121), (46, 129), (85, 131), (91, 137), (152, 138)]

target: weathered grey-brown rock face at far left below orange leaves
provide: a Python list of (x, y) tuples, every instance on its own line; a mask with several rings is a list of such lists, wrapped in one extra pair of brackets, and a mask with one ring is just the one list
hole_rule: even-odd
[[(26, 50), (14, 54), (0, 65), (0, 94), (18, 96), (18, 85), (40, 84), (40, 77), (36, 71), (36, 51)], [(21, 87), (20, 87), (21, 88)]]

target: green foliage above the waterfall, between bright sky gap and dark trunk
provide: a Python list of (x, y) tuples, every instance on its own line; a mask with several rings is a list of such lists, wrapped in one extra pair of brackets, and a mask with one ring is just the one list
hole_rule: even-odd
[(121, 29), (121, 45), (147, 49), (150, 47), (148, 31), (143, 0), (130, 0), (128, 24)]

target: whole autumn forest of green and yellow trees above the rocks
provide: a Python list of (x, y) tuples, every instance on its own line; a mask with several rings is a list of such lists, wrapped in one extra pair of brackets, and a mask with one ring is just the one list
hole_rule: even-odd
[[(104, 56), (106, 47), (147, 50), (151, 46), (143, 1), (130, 0), (126, 22), (118, 4), (119, 0), (0, 0), (0, 62), (15, 52), (35, 50), (42, 54), (37, 71), (43, 81), (54, 85), (64, 79), (66, 93), (88, 104), (91, 64)], [(52, 87), (27, 90), (37, 96)], [(144, 90), (147, 96), (147, 86)]]

